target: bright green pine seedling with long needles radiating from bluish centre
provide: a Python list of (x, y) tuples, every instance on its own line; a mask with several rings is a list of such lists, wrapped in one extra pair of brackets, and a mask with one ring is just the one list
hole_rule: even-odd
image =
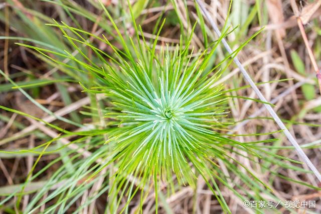
[[(109, 16), (107, 11), (106, 13)], [(122, 37), (110, 16), (109, 18), (118, 32), (120, 42), (126, 44), (125, 40), (128, 38)], [(163, 25), (164, 22), (158, 34)], [(223, 209), (228, 211), (229, 208), (214, 179), (221, 179), (217, 160), (231, 161), (227, 152), (233, 146), (255, 156), (259, 155), (246, 144), (219, 133), (219, 130), (226, 129), (230, 124), (224, 119), (228, 113), (226, 101), (229, 96), (223, 90), (222, 84), (212, 87), (221, 74), (217, 70), (221, 63), (206, 72), (205, 68), (225, 34), (210, 47), (210, 52), (199, 52), (197, 57), (193, 57), (193, 51), (190, 50), (192, 36), (185, 44), (181, 39), (181, 44), (174, 51), (170, 51), (167, 46), (159, 52), (155, 51), (157, 40), (149, 47), (145, 42), (134, 43), (128, 39), (131, 46), (125, 46), (121, 51), (106, 37), (96, 37), (115, 52), (115, 57), (107, 56), (107, 62), (103, 58), (105, 53), (89, 44), (79, 33), (93, 35), (64, 23), (53, 26), (60, 28), (75, 48), (76, 43), (85, 44), (104, 62), (100, 67), (92, 62), (87, 64), (78, 61), (68, 53), (64, 55), (96, 77), (97, 86), (86, 88), (83, 85), (84, 90), (103, 93), (110, 103), (104, 112), (107, 119), (105, 124), (110, 127), (106, 131), (108, 140), (105, 144), (111, 149), (108, 150), (110, 152), (105, 159), (106, 163), (87, 178), (90, 180), (111, 163), (115, 164), (117, 171), (112, 175), (113, 183), (109, 193), (116, 194), (109, 196), (109, 202), (113, 204), (109, 211), (115, 211), (124, 196), (128, 198), (128, 205), (138, 190), (141, 190), (141, 195), (144, 191), (149, 193), (148, 186), (145, 185), (150, 181), (154, 186), (157, 210), (160, 183), (168, 183), (169, 193), (176, 191), (173, 175), (180, 185), (189, 184), (193, 187), (196, 187), (196, 180), (200, 175)], [(67, 35), (66, 30), (73, 32), (78, 38)], [(142, 31), (139, 31), (143, 35)], [(29, 47), (47, 56), (44, 53), (46, 50)], [(81, 52), (80, 48), (77, 50)], [(81, 54), (86, 56), (82, 52)], [(229, 57), (226, 60), (229, 60)], [(87, 61), (90, 60), (87, 58)], [(137, 182), (130, 184), (130, 177), (135, 177)], [(261, 182), (254, 175), (253, 179)], [(117, 193), (120, 194), (118, 198)], [(143, 198), (142, 196), (141, 204)], [(126, 208), (127, 206), (124, 206), (123, 210)]]

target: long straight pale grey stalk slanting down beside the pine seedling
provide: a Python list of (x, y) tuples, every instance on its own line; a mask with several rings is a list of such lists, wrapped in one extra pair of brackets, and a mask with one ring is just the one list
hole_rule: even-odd
[[(207, 12), (207, 10), (205, 9), (203, 3), (201, 3), (200, 0), (196, 0), (196, 2), (198, 3), (198, 5), (200, 6), (204, 16), (208, 19), (208, 21), (210, 22), (210, 24), (212, 25), (215, 33), (220, 37), (222, 34), (220, 32), (220, 30), (218, 29), (218, 27), (215, 25), (215, 23), (213, 22), (213, 20), (211, 19), (209, 13)], [(232, 54), (233, 51), (230, 48), (230, 46), (228, 45), (228, 43), (226, 42), (226, 40), (223, 38), (222, 39), (222, 43), (225, 47), (225, 49)], [(294, 146), (294, 148), (296, 149), (299, 157), (308, 165), (308, 167), (312, 170), (312, 172), (314, 173), (314, 175), (317, 177), (317, 179), (321, 182), (321, 174), (319, 173), (319, 171), (315, 168), (315, 166), (313, 165), (313, 163), (310, 161), (310, 159), (306, 156), (306, 154), (304, 153), (304, 151), (301, 149), (301, 147), (299, 146), (299, 144), (296, 142), (296, 140), (293, 138), (293, 136), (291, 135), (291, 133), (288, 131), (288, 129), (286, 128), (286, 126), (283, 124), (283, 122), (281, 121), (281, 119), (277, 116), (277, 114), (274, 112), (274, 110), (272, 109), (271, 105), (266, 104), (268, 101), (265, 99), (265, 97), (263, 96), (263, 94), (261, 93), (261, 91), (258, 89), (258, 87), (256, 86), (256, 84), (254, 83), (254, 81), (251, 79), (250, 75), (247, 73), (247, 71), (244, 69), (244, 67), (242, 66), (241, 62), (239, 61), (239, 59), (237, 58), (237, 56), (235, 56), (233, 58), (234, 63), (240, 68), (244, 78), (246, 79), (246, 81), (251, 85), (251, 87), (253, 88), (253, 90), (255, 91), (255, 93), (257, 94), (257, 96), (260, 98), (260, 100), (262, 100), (265, 105), (265, 108), (267, 109), (267, 111), (270, 113), (270, 115), (273, 117), (274, 121), (277, 123), (277, 125), (281, 128), (281, 130), (283, 130), (285, 136), (287, 137), (287, 139), (291, 142), (291, 144)]]

